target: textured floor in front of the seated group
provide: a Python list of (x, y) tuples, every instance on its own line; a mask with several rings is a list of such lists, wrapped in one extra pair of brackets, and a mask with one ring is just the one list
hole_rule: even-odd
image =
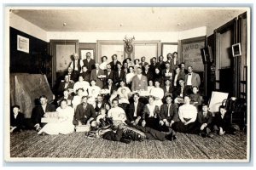
[(84, 133), (40, 136), (35, 131), (10, 135), (10, 156), (44, 158), (221, 159), (246, 160), (247, 135), (226, 134), (214, 139), (177, 133), (175, 141), (145, 140), (130, 144), (85, 139)]

